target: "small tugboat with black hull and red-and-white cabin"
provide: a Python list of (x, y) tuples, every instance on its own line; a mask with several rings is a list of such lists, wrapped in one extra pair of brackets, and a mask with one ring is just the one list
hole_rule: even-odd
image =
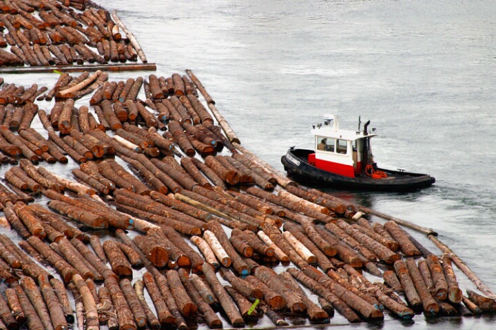
[(302, 184), (349, 190), (411, 191), (432, 186), (431, 175), (379, 168), (374, 162), (370, 120), (360, 131), (339, 128), (338, 117), (324, 115), (313, 126), (315, 150), (289, 148), (281, 162), (288, 176)]

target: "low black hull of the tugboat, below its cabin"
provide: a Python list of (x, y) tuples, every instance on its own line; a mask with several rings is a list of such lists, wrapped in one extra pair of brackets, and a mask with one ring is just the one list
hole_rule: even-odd
[(366, 175), (363, 177), (344, 177), (309, 164), (308, 155), (313, 152), (313, 150), (307, 149), (289, 149), (286, 155), (281, 157), (281, 162), (288, 176), (304, 185), (313, 184), (347, 190), (412, 191), (428, 188), (435, 182), (435, 178), (431, 175), (384, 168), (378, 168), (388, 175), (384, 179), (373, 179)]

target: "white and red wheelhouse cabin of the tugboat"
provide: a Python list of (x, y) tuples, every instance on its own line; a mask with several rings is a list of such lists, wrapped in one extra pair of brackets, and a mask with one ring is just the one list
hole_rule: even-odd
[[(366, 131), (339, 129), (337, 116), (324, 115), (324, 124), (313, 126), (315, 153), (309, 155), (309, 163), (322, 170), (355, 177), (373, 164), (370, 138), (377, 136)], [(359, 125), (360, 128), (360, 125)]]

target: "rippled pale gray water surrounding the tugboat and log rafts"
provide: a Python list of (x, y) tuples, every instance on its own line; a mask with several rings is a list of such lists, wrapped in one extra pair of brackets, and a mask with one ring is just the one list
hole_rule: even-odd
[[(375, 161), (428, 173), (411, 193), (333, 192), (433, 228), (496, 291), (496, 5), (494, 1), (101, 1), (140, 41), (157, 75), (192, 69), (242, 145), (283, 170), (311, 124), (371, 120)], [(112, 73), (112, 80), (149, 72)], [(14, 76), (16, 83), (55, 75)], [(374, 221), (379, 220), (372, 218)], [(411, 232), (435, 253), (439, 250)], [(473, 289), (457, 272), (460, 287)], [(494, 316), (344, 329), (493, 329)], [(331, 325), (345, 325), (338, 314)], [(262, 326), (271, 325), (262, 322)], [(330, 327), (329, 328), (333, 328)]]

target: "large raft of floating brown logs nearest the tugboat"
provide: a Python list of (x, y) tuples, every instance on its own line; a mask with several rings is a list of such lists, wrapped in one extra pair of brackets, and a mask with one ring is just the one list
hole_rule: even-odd
[[(112, 49), (125, 42), (116, 42), (120, 30), (107, 25), (104, 10), (66, 16), (42, 2), (52, 6), (39, 15), (52, 24), (50, 38), (74, 44), (75, 54), (56, 47), (64, 58), (99, 61), (88, 52), (95, 43), (106, 61), (121, 61)], [(81, 28), (81, 20), (91, 25)], [(2, 22), (10, 31), (10, 19)], [(114, 42), (105, 45), (108, 38)], [(27, 48), (19, 50), (30, 63)], [(277, 175), (219, 136), (196, 89), (208, 96), (192, 75), (110, 81), (103, 72), (61, 74), (50, 90), (3, 85), (0, 150), (3, 164), (17, 164), (0, 184), (1, 225), (21, 238), (0, 235), (0, 276), (9, 286), (0, 319), (8, 329), (27, 322), (63, 330), (75, 319), (80, 329), (218, 329), (218, 313), (242, 327), (260, 314), (282, 326), (282, 315), (313, 324), (335, 312), (375, 322), (496, 310), (487, 289), (464, 295), (453, 254), (436, 256), (393, 221), (369, 223), (324, 192), (276, 187)], [(45, 91), (43, 100), (56, 98), (49, 113), (34, 103)], [(79, 104), (86, 93), (89, 106)], [(38, 119), (46, 132), (30, 127)], [(67, 155), (78, 163), (71, 179), (37, 164)], [(268, 267), (289, 263), (295, 267), (281, 274)]]

